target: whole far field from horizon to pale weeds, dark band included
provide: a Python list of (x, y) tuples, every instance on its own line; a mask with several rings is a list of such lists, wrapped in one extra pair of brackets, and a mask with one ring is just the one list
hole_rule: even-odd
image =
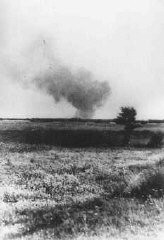
[[(131, 136), (131, 146), (147, 147), (164, 123), (144, 123)], [(63, 147), (120, 147), (124, 127), (107, 120), (0, 120), (0, 141)]]

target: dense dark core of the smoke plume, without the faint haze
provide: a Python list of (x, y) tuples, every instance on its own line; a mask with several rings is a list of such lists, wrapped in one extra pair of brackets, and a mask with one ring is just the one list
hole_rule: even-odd
[(99, 82), (90, 72), (72, 73), (67, 67), (51, 69), (34, 78), (36, 87), (50, 94), (55, 102), (67, 100), (76, 111), (76, 117), (91, 118), (107, 99), (108, 82)]

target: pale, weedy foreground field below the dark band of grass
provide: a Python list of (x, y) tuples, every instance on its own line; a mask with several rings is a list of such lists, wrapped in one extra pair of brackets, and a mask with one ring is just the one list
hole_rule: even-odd
[(0, 152), (0, 239), (158, 239), (162, 150), (1, 143)]

